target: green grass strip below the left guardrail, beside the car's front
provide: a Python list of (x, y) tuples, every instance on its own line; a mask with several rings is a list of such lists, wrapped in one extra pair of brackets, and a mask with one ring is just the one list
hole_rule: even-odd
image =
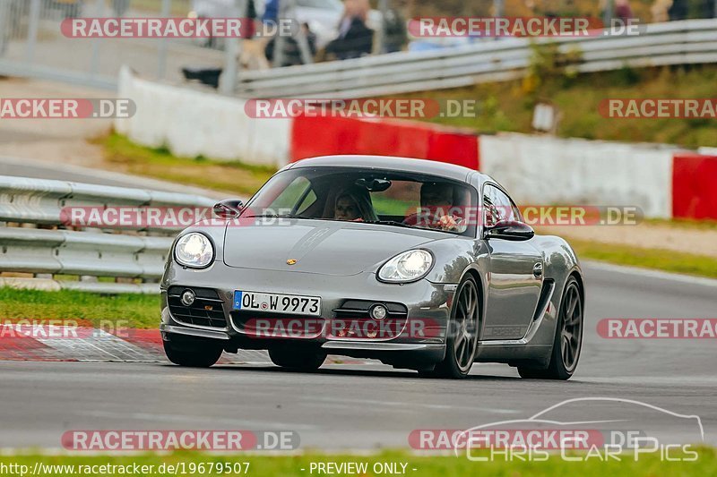
[[(0, 320), (73, 319), (99, 327), (102, 320), (125, 320), (128, 328), (157, 328), (160, 297), (153, 294), (91, 294), (0, 288)], [(2, 474), (2, 473), (0, 473)]]

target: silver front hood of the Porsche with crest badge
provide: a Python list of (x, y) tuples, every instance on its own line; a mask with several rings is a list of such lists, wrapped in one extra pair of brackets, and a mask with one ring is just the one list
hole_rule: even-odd
[[(228, 226), (224, 263), (229, 267), (350, 276), (371, 270), (405, 250), (445, 234), (398, 226), (324, 220), (289, 225)], [(287, 260), (296, 260), (289, 265)]]

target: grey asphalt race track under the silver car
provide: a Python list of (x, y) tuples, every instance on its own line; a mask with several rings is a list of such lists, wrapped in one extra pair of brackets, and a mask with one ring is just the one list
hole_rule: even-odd
[[(0, 362), (0, 447), (60, 447), (66, 430), (294, 430), (301, 447), (407, 447), (411, 430), (462, 430), (528, 418), (566, 399), (561, 422), (627, 420), (697, 442), (694, 420), (635, 411), (635, 400), (697, 415), (717, 443), (714, 340), (610, 340), (603, 318), (717, 318), (717, 282), (585, 266), (583, 356), (568, 382), (520, 379), (504, 365), (469, 379), (419, 379), (381, 364), (331, 365), (313, 374), (228, 365), (187, 370), (160, 363)], [(644, 408), (640, 408), (644, 411)]]

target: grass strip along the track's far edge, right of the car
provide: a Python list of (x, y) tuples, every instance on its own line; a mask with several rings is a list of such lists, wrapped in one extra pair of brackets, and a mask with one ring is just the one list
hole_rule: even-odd
[(616, 265), (717, 278), (717, 259), (713, 257), (664, 249), (643, 249), (615, 243), (573, 239), (569, 239), (568, 242), (582, 260), (599, 260)]

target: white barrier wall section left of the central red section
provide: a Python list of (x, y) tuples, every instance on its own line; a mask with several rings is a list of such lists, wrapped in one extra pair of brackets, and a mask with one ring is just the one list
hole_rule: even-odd
[(241, 160), (281, 167), (289, 160), (289, 119), (254, 119), (245, 101), (135, 78), (127, 68), (119, 76), (118, 98), (137, 106), (115, 129), (149, 147), (167, 146), (179, 157)]

